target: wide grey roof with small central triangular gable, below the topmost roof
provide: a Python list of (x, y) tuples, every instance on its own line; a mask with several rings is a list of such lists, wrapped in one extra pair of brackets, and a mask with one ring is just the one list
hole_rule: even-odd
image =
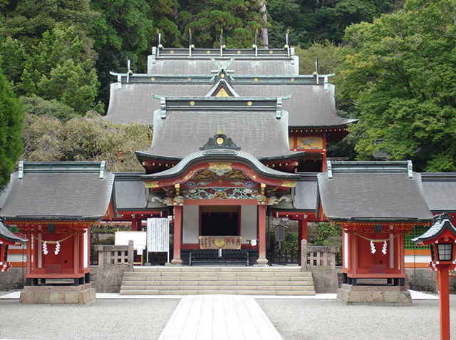
[[(209, 78), (209, 77), (208, 77)], [(232, 83), (234, 90), (243, 97), (284, 97), (291, 98), (282, 103), (282, 109), (289, 112), (289, 127), (325, 128), (345, 126), (356, 120), (342, 118), (336, 114), (334, 86), (328, 90), (322, 85), (291, 85), (281, 83)], [(113, 123), (137, 121), (153, 125), (153, 112), (160, 108), (158, 96), (205, 96), (212, 83), (129, 83), (111, 84), (110, 103), (106, 119)]]

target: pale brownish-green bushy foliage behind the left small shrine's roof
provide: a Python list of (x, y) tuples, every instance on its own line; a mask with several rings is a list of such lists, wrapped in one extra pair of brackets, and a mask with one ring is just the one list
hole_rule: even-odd
[(61, 123), (50, 115), (26, 115), (24, 155), (28, 161), (106, 160), (109, 171), (142, 171), (135, 150), (150, 148), (147, 125), (115, 125), (89, 111)]

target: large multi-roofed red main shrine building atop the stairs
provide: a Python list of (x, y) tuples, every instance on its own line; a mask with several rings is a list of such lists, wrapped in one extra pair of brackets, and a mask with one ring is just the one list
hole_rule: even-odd
[(296, 209), (300, 172), (326, 170), (326, 143), (356, 121), (336, 114), (331, 75), (299, 75), (293, 48), (154, 48), (148, 62), (147, 74), (113, 73), (106, 119), (153, 126), (150, 150), (136, 152), (138, 178), (150, 216), (174, 216), (172, 263), (230, 237), (236, 244), (226, 248), (266, 264), (274, 212), (298, 220), (306, 239), (307, 222), (318, 219), (314, 207)]

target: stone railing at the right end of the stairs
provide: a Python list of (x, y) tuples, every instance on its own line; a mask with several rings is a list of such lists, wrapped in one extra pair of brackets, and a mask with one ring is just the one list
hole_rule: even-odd
[(312, 272), (317, 293), (337, 292), (336, 253), (339, 247), (308, 246), (301, 241), (301, 271)]

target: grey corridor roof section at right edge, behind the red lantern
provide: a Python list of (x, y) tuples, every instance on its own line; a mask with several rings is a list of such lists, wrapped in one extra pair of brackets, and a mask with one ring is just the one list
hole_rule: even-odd
[(423, 192), (432, 212), (456, 212), (456, 174), (422, 173)]

